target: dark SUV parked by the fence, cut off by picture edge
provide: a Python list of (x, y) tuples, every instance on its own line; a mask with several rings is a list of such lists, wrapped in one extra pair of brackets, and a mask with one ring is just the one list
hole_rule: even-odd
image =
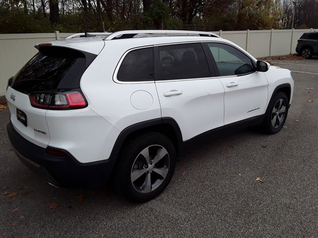
[(306, 59), (318, 55), (318, 32), (304, 33), (298, 40), (296, 52)]

